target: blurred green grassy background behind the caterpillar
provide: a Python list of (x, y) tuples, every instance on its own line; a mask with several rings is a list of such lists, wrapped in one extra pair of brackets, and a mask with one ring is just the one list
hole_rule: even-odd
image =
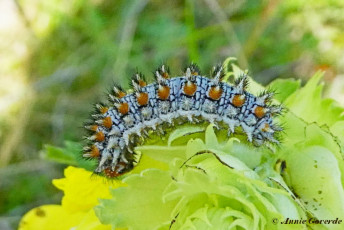
[(60, 202), (51, 180), (65, 165), (42, 149), (72, 151), (65, 141), (82, 140), (114, 82), (127, 87), (136, 68), (152, 79), (161, 63), (208, 74), (229, 56), (262, 84), (324, 70), (326, 96), (343, 103), (344, 1), (1, 0), (0, 229)]

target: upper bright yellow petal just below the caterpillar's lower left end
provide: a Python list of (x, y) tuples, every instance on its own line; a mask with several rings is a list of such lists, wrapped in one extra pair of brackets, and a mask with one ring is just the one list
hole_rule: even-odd
[(69, 166), (65, 178), (53, 180), (53, 184), (64, 191), (62, 206), (69, 211), (88, 211), (98, 204), (98, 199), (110, 198), (109, 188), (123, 186), (121, 181), (108, 181), (92, 175), (82, 168)]

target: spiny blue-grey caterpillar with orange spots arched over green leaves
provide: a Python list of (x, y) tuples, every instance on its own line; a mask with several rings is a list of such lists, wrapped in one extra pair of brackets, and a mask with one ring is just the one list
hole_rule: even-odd
[(272, 105), (273, 92), (254, 96), (246, 91), (246, 74), (230, 85), (223, 82), (222, 66), (216, 66), (212, 78), (201, 76), (191, 64), (184, 76), (170, 78), (169, 69), (162, 65), (154, 72), (156, 82), (147, 85), (141, 73), (132, 78), (132, 93), (114, 86), (109, 95), (110, 105), (97, 104), (98, 114), (86, 126), (92, 132), (91, 142), (84, 148), (86, 158), (98, 159), (95, 173), (117, 177), (134, 167), (134, 147), (141, 144), (149, 132), (161, 132), (166, 125), (209, 122), (228, 130), (228, 135), (241, 127), (247, 140), (260, 146), (279, 144), (277, 134), (282, 128), (273, 117), (282, 111)]

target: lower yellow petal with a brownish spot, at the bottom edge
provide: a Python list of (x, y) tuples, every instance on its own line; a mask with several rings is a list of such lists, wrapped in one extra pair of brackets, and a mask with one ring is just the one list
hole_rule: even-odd
[(60, 205), (43, 205), (30, 210), (19, 223), (19, 230), (70, 230), (84, 218), (84, 212), (72, 213)]

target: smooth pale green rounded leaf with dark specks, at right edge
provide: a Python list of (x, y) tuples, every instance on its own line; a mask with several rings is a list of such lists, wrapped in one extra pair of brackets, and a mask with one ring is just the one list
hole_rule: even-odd
[(312, 146), (290, 152), (286, 161), (290, 186), (307, 209), (318, 219), (343, 219), (342, 171), (333, 153), (324, 147)]

